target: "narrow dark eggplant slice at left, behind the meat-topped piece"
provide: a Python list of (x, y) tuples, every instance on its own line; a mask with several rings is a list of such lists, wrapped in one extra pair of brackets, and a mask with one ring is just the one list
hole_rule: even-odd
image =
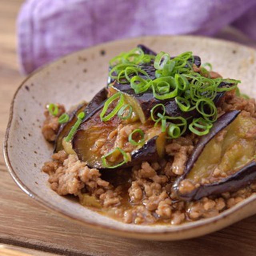
[(87, 115), (88, 113), (91, 113), (95, 108), (97, 108), (104, 100), (107, 98), (107, 90), (106, 88), (102, 88), (93, 98), (92, 100), (87, 104), (86, 102), (83, 102), (82, 104), (79, 104), (74, 110), (72, 110), (69, 113), (69, 121), (65, 124), (62, 124), (60, 126), (60, 129), (57, 134), (57, 138), (55, 140), (54, 145), (54, 152), (58, 152), (63, 149), (62, 140), (64, 137), (68, 135), (70, 132), (72, 126), (75, 124), (77, 120), (77, 115), (84, 111)]

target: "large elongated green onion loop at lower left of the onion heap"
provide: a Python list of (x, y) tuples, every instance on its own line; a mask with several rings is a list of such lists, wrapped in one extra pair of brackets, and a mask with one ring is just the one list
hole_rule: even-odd
[[(114, 109), (109, 114), (104, 116), (106, 114), (110, 104), (114, 100), (117, 100), (118, 98), (119, 98), (118, 103), (116, 104)], [(124, 104), (124, 95), (121, 92), (117, 92), (117, 93), (113, 94), (110, 98), (108, 98), (106, 100), (104, 107), (102, 109), (102, 112), (100, 113), (100, 120), (103, 122), (106, 122), (106, 121), (110, 120), (111, 118), (113, 118), (115, 116), (115, 114), (118, 112), (118, 110), (122, 107), (123, 104)]]

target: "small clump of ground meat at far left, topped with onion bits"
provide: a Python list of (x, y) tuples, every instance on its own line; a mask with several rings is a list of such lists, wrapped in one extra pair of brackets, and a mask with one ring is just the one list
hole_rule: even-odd
[(50, 114), (47, 108), (44, 111), (44, 116), (46, 117), (46, 119), (44, 120), (44, 123), (42, 126), (42, 134), (44, 138), (50, 142), (56, 139), (56, 135), (60, 128), (58, 118), (63, 113), (65, 113), (65, 108), (63, 105), (60, 105), (60, 104), (56, 104), (56, 105), (58, 106), (58, 114), (56, 116), (52, 116), (52, 114)]

